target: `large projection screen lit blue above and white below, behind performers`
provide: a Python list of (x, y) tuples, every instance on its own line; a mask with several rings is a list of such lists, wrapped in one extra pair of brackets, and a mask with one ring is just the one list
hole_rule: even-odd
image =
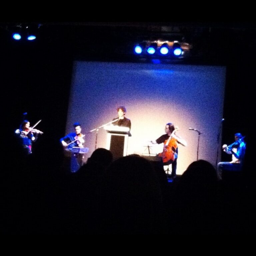
[[(177, 174), (198, 159), (216, 164), (218, 137), (221, 141), (226, 67), (177, 64), (141, 64), (74, 61), (66, 133), (80, 122), (82, 133), (117, 117), (125, 106), (131, 120), (128, 154), (162, 152), (163, 144), (149, 144), (164, 134), (165, 124), (179, 127), (177, 135), (187, 141), (179, 145)], [(95, 149), (96, 131), (85, 136), (87, 157)], [(106, 148), (107, 132), (100, 128), (97, 148)], [(218, 161), (221, 153), (219, 152)], [(86, 160), (85, 160), (86, 161)]]

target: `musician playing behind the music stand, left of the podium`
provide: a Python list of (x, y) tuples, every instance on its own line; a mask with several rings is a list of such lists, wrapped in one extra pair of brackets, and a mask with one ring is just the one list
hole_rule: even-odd
[[(72, 148), (74, 147), (83, 148), (83, 143), (85, 142), (84, 135), (81, 133), (82, 128), (80, 123), (74, 123), (73, 127), (75, 129), (75, 132), (70, 132), (60, 139), (60, 142), (63, 145), (64, 149), (70, 152), (72, 152)], [(78, 169), (83, 165), (83, 159), (83, 154), (72, 152), (70, 167), (71, 172), (78, 171)]]

